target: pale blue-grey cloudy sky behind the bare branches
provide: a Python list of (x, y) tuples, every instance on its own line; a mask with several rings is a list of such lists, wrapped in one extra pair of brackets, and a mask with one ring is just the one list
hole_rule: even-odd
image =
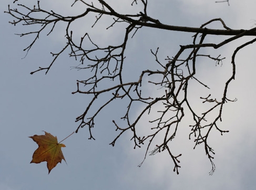
[[(28, 0), (18, 2), (36, 3)], [(62, 2), (42, 1), (41, 7), (67, 15), (84, 11), (83, 6), (71, 8), (73, 1), (66, 1), (65, 4)], [(120, 12), (138, 13), (142, 10), (140, 5), (131, 7), (131, 0), (120, 2), (115, 5)], [(214, 2), (149, 1), (148, 14), (161, 23), (179, 26), (200, 27), (213, 18), (222, 18), (233, 29), (250, 29), (256, 24), (256, 2), (230, 0), (230, 6)], [(211, 164), (203, 147), (198, 146), (193, 150), (193, 141), (188, 140), (189, 123), (176, 137), (179, 138), (179, 146), (175, 150), (177, 155), (182, 153), (179, 175), (173, 172), (173, 163), (165, 152), (149, 156), (141, 167), (137, 167), (143, 160), (145, 148), (134, 150), (128, 134), (115, 147), (109, 145), (117, 134), (111, 122), (115, 117), (111, 113), (117, 109), (115, 104), (98, 117), (93, 131), (96, 141), (88, 140), (89, 134), (85, 128), (63, 142), (66, 144), (63, 153), (67, 164), (58, 164), (48, 175), (46, 163), (29, 164), (37, 144), (28, 136), (47, 131), (62, 140), (76, 130), (75, 118), (83, 113), (89, 99), (71, 92), (76, 90), (76, 80), (83, 79), (85, 73), (83, 70), (70, 69), (78, 63), (64, 55), (47, 75), (44, 72), (30, 75), (31, 71), (52, 61), (50, 51), (56, 52), (62, 48), (65, 37), (61, 29), (64, 25), (59, 25), (51, 36), (43, 35), (39, 38), (24, 58), (26, 53), (23, 49), (33, 38), (14, 35), (28, 31), (29, 28), (8, 24), (8, 21), (13, 20), (4, 14), (8, 4), (16, 7), (13, 0), (0, 2), (0, 189), (255, 189), (255, 44), (245, 47), (237, 55), (237, 74), (230, 85), (228, 97), (237, 98), (238, 101), (224, 105), (221, 123), (221, 128), (230, 132), (222, 136), (216, 132), (210, 139), (216, 152), (216, 171), (213, 175), (208, 175)], [(103, 30), (108, 26), (107, 22), (99, 22), (97, 27), (102, 29), (96, 27), (96, 30), (91, 29), (91, 20), (85, 20), (84, 23), (86, 24), (73, 26), (78, 35), (85, 30), (93, 31), (95, 39), (104, 43), (115, 43), (115, 40), (122, 38), (123, 34), (118, 27)], [(220, 24), (213, 24), (211, 27), (222, 29)], [(155, 64), (150, 49), (157, 47), (160, 48), (159, 56), (164, 61), (166, 56), (175, 55), (179, 45), (190, 44), (191, 36), (192, 34), (142, 28), (129, 41), (127, 62), (134, 62), (139, 68), (144, 68), (145, 62)], [(220, 36), (208, 37), (214, 43), (222, 39), (224, 38)], [(226, 57), (222, 67), (216, 67), (214, 62), (198, 62), (198, 76), (211, 88), (208, 94), (222, 94), (223, 82), (232, 71), (232, 52), (235, 47), (250, 39), (253, 38), (239, 39), (218, 51), (206, 51), (207, 54)], [(127, 69), (131, 70), (134, 66), (131, 64), (130, 67)], [(136, 72), (132, 73), (137, 77)], [(194, 88), (200, 87), (195, 85)], [(197, 104), (200, 103), (200, 94), (194, 91), (191, 96), (198, 106), (196, 109), (203, 109), (201, 104)]]

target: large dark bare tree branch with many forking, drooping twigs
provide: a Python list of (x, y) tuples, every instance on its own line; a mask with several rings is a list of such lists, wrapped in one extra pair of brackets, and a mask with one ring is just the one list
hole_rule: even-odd
[[(229, 1), (227, 2), (229, 3)], [(77, 89), (72, 92), (73, 94), (81, 93), (91, 94), (93, 96), (85, 111), (76, 118), (76, 122), (79, 123), (76, 132), (78, 132), (80, 128), (88, 126), (90, 134), (89, 139), (95, 139), (91, 129), (95, 126), (95, 121), (97, 120), (99, 112), (101, 112), (112, 102), (124, 100), (124, 102), (127, 103), (127, 107), (124, 109), (125, 114), (121, 120), (125, 121), (126, 124), (125, 126), (122, 126), (122, 124), (119, 124), (118, 121), (112, 121), (116, 127), (116, 131), (118, 131), (119, 134), (110, 143), (110, 145), (114, 146), (117, 140), (125, 132), (129, 131), (132, 134), (131, 140), (134, 142), (134, 148), (141, 147), (141, 145), (146, 144), (147, 149), (144, 160), (146, 159), (148, 153), (149, 155), (154, 155), (167, 150), (175, 165), (173, 171), (179, 174), (178, 168), (180, 167), (180, 161), (178, 160), (178, 157), (181, 156), (181, 154), (178, 154), (178, 156), (173, 154), (169, 145), (178, 133), (180, 122), (183, 121), (183, 118), (185, 118), (185, 113), (190, 113), (192, 114), (193, 123), (190, 125), (191, 133), (189, 134), (189, 138), (193, 136), (194, 147), (199, 144), (204, 145), (204, 150), (212, 165), (210, 172), (210, 174), (212, 174), (215, 170), (215, 165), (212, 161), (214, 151), (208, 144), (208, 138), (211, 131), (214, 129), (219, 131), (221, 135), (222, 133), (228, 132), (219, 128), (218, 125), (222, 121), (221, 117), (224, 103), (234, 102), (237, 100), (230, 100), (227, 97), (229, 84), (235, 78), (235, 56), (240, 49), (254, 43), (256, 38), (242, 44), (234, 50), (231, 61), (232, 75), (227, 81), (224, 81), (225, 86), (223, 89), (223, 96), (221, 99), (216, 99), (214, 97), (210, 98), (211, 94), (205, 98), (201, 97), (203, 100), (202, 103), (211, 105), (211, 107), (203, 113), (194, 111), (194, 108), (191, 106), (191, 102), (188, 99), (189, 81), (195, 79), (203, 87), (209, 88), (196, 76), (198, 68), (197, 58), (206, 58), (209, 61), (214, 61), (216, 65), (222, 65), (222, 60), (225, 59), (224, 57), (221, 57), (221, 55), (214, 57), (212, 55), (201, 54), (199, 53), (199, 50), (209, 48), (214, 51), (214, 49), (223, 47), (229, 44), (231, 41), (243, 38), (244, 36), (255, 37), (256, 28), (254, 27), (250, 30), (231, 29), (221, 18), (209, 20), (209, 22), (204, 23), (200, 27), (172, 26), (163, 24), (160, 22), (160, 20), (152, 18), (147, 14), (147, 0), (134, 0), (131, 2), (132, 6), (139, 3), (143, 5), (143, 9), (137, 14), (120, 14), (117, 10), (112, 8), (110, 4), (103, 0), (97, 1), (99, 5), (94, 5), (93, 3), (89, 4), (83, 0), (75, 0), (73, 5), (76, 3), (81, 3), (87, 7), (84, 13), (76, 16), (64, 16), (57, 14), (52, 10), (48, 11), (43, 9), (40, 7), (39, 1), (33, 8), (18, 4), (17, 6), (22, 8), (22, 11), (18, 10), (17, 8), (12, 9), (10, 6), (8, 6), (8, 11), (5, 12), (14, 18), (13, 22), (10, 22), (13, 25), (22, 23), (25, 26), (39, 26), (39, 29), (36, 31), (18, 34), (19, 36), (35, 35), (32, 43), (30, 43), (30, 45), (24, 49), (27, 52), (30, 50), (30, 48), (32, 48), (32, 46), (35, 45), (39, 35), (41, 35), (42, 31), (46, 30), (47, 27), (50, 27), (50, 30), (47, 33), (47, 35), (50, 35), (53, 30), (55, 30), (57, 23), (66, 23), (66, 45), (57, 53), (51, 52), (54, 59), (48, 67), (39, 67), (38, 70), (31, 72), (31, 74), (42, 70), (46, 70), (47, 73), (57, 58), (67, 49), (70, 49), (70, 57), (74, 57), (76, 60), (80, 61), (80, 64), (77, 67), (74, 67), (75, 69), (84, 69), (91, 72), (91, 75), (87, 75), (87, 78), (84, 80), (77, 80)], [(92, 27), (94, 27), (98, 20), (104, 16), (114, 19), (114, 22), (109, 23), (109, 27), (107, 27), (107, 29), (110, 27), (115, 27), (119, 23), (125, 25), (124, 37), (121, 41), (119, 41), (118, 45), (101, 47), (101, 45), (94, 43), (94, 40), (91, 39), (87, 31), (83, 36), (81, 36), (79, 43), (76, 43), (76, 40), (73, 39), (73, 31), (70, 29), (71, 23), (79, 18), (89, 17), (95, 14), (98, 16), (96, 16), (95, 23)], [(207, 28), (207, 26), (213, 22), (220, 22), (224, 29)], [(167, 55), (164, 62), (161, 62), (158, 59), (159, 48), (157, 48), (156, 51), (151, 50), (151, 54), (153, 57), (155, 57), (158, 69), (142, 70), (137, 78), (132, 78), (131, 81), (126, 82), (123, 76), (124, 73), (126, 73), (124, 65), (126, 64), (125, 52), (127, 42), (142, 27), (188, 32), (193, 34), (193, 40), (191, 43), (188, 43), (185, 46), (180, 46), (180, 49), (174, 56), (169, 57)], [(221, 41), (219, 44), (204, 43), (204, 39), (208, 35), (227, 36), (227, 39)], [(189, 51), (189, 54), (185, 54), (185, 51)], [(157, 76), (158, 80), (156, 80), (156, 77), (152, 80), (148, 80), (151, 76)], [(144, 83), (155, 85), (159, 89), (158, 95), (155, 97), (150, 97), (147, 92), (145, 92), (143, 85)], [(93, 112), (93, 105), (96, 104), (98, 99), (103, 97), (107, 97), (108, 100), (101, 104), (97, 111)], [(136, 103), (140, 103), (144, 107), (134, 118), (131, 117), (130, 114), (134, 112)], [(158, 116), (149, 121), (150, 124), (154, 125), (154, 127), (151, 128), (151, 133), (140, 136), (137, 132), (139, 121), (145, 115), (150, 114), (150, 111), (156, 108), (158, 105), (161, 105), (161, 110), (158, 110), (157, 112)], [(208, 115), (215, 110), (218, 111), (218, 114), (215, 115), (214, 119), (211, 121), (207, 121)], [(161, 136), (160, 134), (164, 134), (163, 138), (161, 139), (161, 143), (156, 145), (156, 147), (150, 151), (152, 142), (154, 142), (158, 136)]]

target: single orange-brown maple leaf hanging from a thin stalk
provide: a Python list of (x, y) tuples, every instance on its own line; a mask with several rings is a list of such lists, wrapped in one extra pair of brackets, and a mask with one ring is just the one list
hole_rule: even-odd
[(62, 163), (62, 159), (66, 162), (61, 150), (62, 147), (66, 146), (65, 144), (59, 144), (56, 136), (45, 132), (45, 135), (35, 134), (34, 136), (29, 136), (29, 138), (38, 144), (30, 163), (47, 162), (47, 168), (50, 173), (59, 162)]

